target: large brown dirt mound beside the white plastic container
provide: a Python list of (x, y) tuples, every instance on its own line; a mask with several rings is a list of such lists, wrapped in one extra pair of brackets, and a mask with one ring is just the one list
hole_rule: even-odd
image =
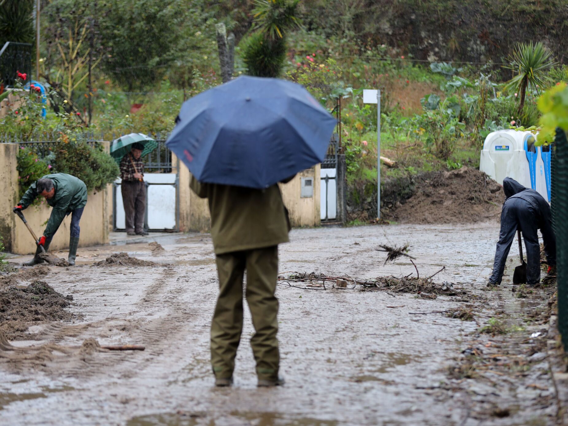
[(477, 169), (462, 167), (419, 178), (414, 195), (383, 214), (400, 223), (475, 223), (499, 220), (501, 186)]

